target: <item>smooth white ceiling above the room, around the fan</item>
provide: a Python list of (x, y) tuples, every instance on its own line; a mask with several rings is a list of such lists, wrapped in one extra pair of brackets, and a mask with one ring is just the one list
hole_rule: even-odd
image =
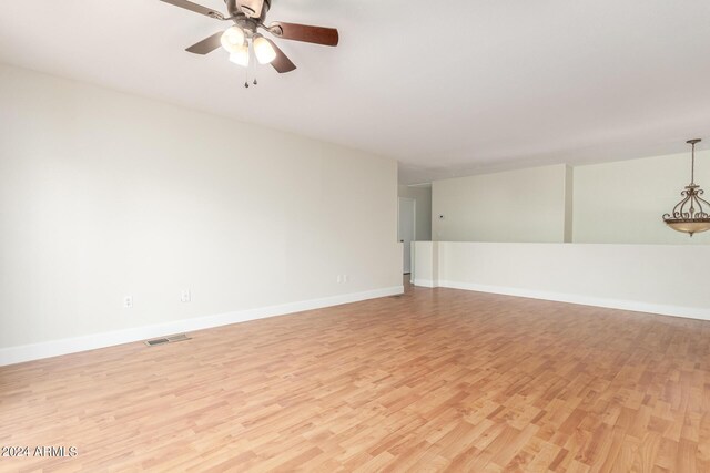
[(300, 69), (248, 90), (225, 52), (183, 51), (224, 23), (159, 0), (3, 1), (0, 61), (392, 156), (403, 183), (710, 135), (707, 0), (273, 2), (341, 44), (281, 40)]

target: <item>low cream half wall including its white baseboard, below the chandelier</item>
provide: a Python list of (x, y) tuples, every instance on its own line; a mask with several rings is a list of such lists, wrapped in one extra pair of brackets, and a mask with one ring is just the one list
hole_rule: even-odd
[(435, 241), (415, 250), (422, 286), (710, 320), (710, 291), (689, 276), (710, 265), (708, 246)]

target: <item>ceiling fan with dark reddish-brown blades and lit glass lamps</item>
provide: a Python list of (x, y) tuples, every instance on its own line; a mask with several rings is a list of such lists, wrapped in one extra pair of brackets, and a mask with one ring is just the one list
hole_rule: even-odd
[(207, 54), (222, 45), (230, 53), (230, 61), (243, 66), (248, 65), (252, 55), (251, 51), (253, 50), (256, 60), (261, 64), (271, 63), (278, 73), (291, 72), (296, 69), (296, 65), (288, 56), (271, 39), (264, 38), (260, 30), (273, 34), (275, 38), (328, 47), (337, 45), (339, 39), (338, 32), (334, 28), (310, 27), (281, 21), (266, 25), (264, 21), (272, 0), (224, 0), (229, 12), (227, 16), (187, 0), (161, 1), (219, 21), (233, 22), (234, 24), (226, 30), (217, 31), (191, 45), (185, 51), (194, 54)]

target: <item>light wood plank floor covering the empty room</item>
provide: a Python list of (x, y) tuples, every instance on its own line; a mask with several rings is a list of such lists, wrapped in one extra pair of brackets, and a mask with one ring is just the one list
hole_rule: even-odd
[(0, 369), (2, 471), (710, 472), (710, 322), (453, 289)]

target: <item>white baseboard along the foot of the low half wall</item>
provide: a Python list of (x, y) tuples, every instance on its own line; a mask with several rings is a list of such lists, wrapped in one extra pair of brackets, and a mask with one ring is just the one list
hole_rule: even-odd
[(452, 289), (493, 292), (506, 296), (529, 297), (530, 299), (554, 300), (557, 302), (579, 304), (581, 306), (606, 307), (609, 309), (630, 310), (633, 312), (658, 313), (661, 316), (684, 317), (688, 319), (710, 320), (710, 309), (698, 307), (668, 306), (660, 304), (639, 302), (636, 300), (619, 300), (601, 297), (590, 297), (576, 294), (551, 292), (531, 289), (520, 289), (503, 286), (486, 286), (473, 282), (439, 280), (439, 287)]

